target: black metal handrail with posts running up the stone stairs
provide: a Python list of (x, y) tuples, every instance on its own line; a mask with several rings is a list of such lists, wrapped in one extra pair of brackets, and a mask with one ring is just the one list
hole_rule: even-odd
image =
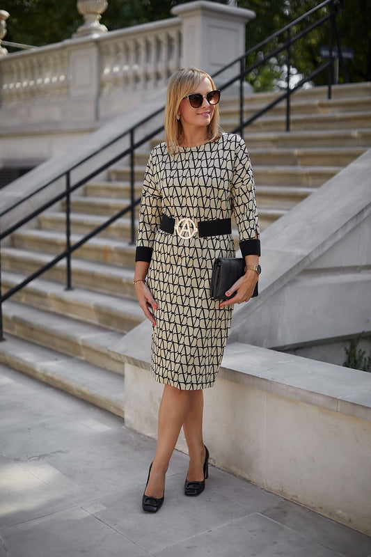
[[(317, 22), (308, 25), (306, 27), (306, 29), (304, 29), (300, 33), (297, 33), (297, 35), (291, 36), (292, 28), (295, 25), (297, 25), (299, 22), (302, 22), (304, 19), (306, 19), (307, 17), (309, 17), (313, 13), (317, 12), (318, 10), (324, 8), (325, 6), (330, 6), (330, 13), (329, 14), (324, 15)], [(338, 11), (338, 8), (340, 8), (340, 7), (342, 8), (342, 0), (325, 0), (325, 1), (323, 1), (318, 6), (315, 6), (315, 8), (313, 8), (313, 9), (309, 10), (307, 13), (301, 15), (301, 17), (295, 19), (290, 24), (287, 24), (286, 26), (284, 26), (279, 31), (276, 31), (276, 33), (273, 33), (271, 36), (269, 36), (267, 39), (260, 42), (258, 45), (255, 45), (255, 47), (252, 47), (251, 49), (248, 49), (242, 56), (239, 56), (238, 58), (235, 58), (235, 60), (228, 63), (226, 66), (224, 66), (221, 70), (219, 70), (218, 72), (216, 72), (213, 75), (213, 79), (216, 79), (216, 77), (218, 77), (221, 73), (223, 73), (226, 70), (232, 68), (234, 65), (237, 65), (237, 64), (239, 65), (239, 72), (235, 75), (235, 77), (232, 77), (232, 78), (228, 79), (228, 81), (224, 82), (220, 86), (221, 90), (223, 90), (223, 89), (228, 88), (230, 85), (234, 84), (236, 81), (239, 82), (239, 125), (235, 128), (235, 130), (233, 130), (233, 132), (239, 132), (239, 134), (241, 134), (243, 136), (244, 128), (247, 125), (251, 124), (257, 118), (260, 118), (260, 116), (267, 113), (267, 111), (272, 109), (274, 106), (276, 106), (276, 104), (283, 101), (284, 99), (286, 99), (286, 130), (290, 131), (290, 98), (291, 98), (292, 93), (294, 93), (294, 91), (297, 91), (297, 89), (301, 88), (301, 86), (303, 86), (304, 83), (306, 83), (307, 81), (311, 81), (314, 77), (316, 77), (318, 74), (322, 73), (326, 69), (329, 70), (328, 97), (329, 97), (329, 99), (331, 98), (331, 86), (332, 86), (331, 69), (333, 67), (333, 36), (334, 35), (335, 35), (336, 43), (337, 43), (337, 46), (338, 46), (340, 63), (342, 64), (342, 69), (343, 69), (343, 71), (345, 72), (345, 75), (346, 75), (344, 62), (342, 60), (340, 42), (339, 42), (339, 38), (338, 38), (338, 29), (337, 29), (337, 26), (336, 26), (336, 13)], [(329, 56), (329, 61), (322, 64), (319, 68), (317, 68), (316, 70), (311, 72), (307, 77), (304, 77), (303, 79), (301, 79), (301, 81), (299, 81), (299, 83), (296, 86), (290, 88), (290, 56), (291, 56), (292, 45), (294, 45), (294, 43), (297, 42), (297, 40), (299, 40), (300, 38), (305, 36), (307, 33), (310, 33), (310, 31), (313, 31), (313, 29), (316, 29), (318, 26), (324, 25), (327, 21), (330, 22), (330, 33), (329, 33), (329, 37), (330, 37), (330, 49), (329, 49), (330, 56)], [(246, 58), (248, 56), (250, 56), (254, 52), (259, 52), (259, 50), (263, 46), (267, 45), (271, 40), (274, 40), (274, 39), (278, 38), (283, 33), (287, 33), (287, 40), (285, 40), (285, 42), (283, 42), (282, 45), (270, 50), (262, 59), (260, 59), (259, 61), (254, 62), (251, 65), (248, 65), (246, 67)], [(254, 70), (256, 68), (259, 68), (261, 65), (266, 63), (267, 60), (269, 60), (269, 58), (272, 58), (273, 56), (276, 56), (277, 54), (279, 54), (280, 52), (283, 52), (284, 50), (287, 51), (287, 87), (286, 87), (285, 92), (282, 95), (279, 95), (278, 97), (276, 97), (276, 99), (274, 99), (273, 101), (269, 102), (269, 104), (267, 104), (266, 107), (260, 109), (255, 114), (253, 114), (253, 116), (244, 120), (244, 82), (245, 82), (246, 75), (248, 73), (250, 73), (252, 70)], [(66, 230), (65, 230), (66, 247), (65, 247), (65, 249), (61, 253), (59, 253), (58, 256), (55, 256), (54, 258), (52, 258), (52, 260), (49, 261), (47, 264), (42, 265), (42, 267), (40, 267), (37, 271), (35, 271), (32, 274), (30, 274), (29, 276), (27, 276), (24, 279), (24, 281), (18, 283), (13, 288), (10, 288), (3, 295), (1, 295), (1, 250), (0, 250), (0, 340), (3, 340), (3, 322), (2, 322), (2, 312), (1, 312), (1, 306), (2, 306), (3, 301), (6, 301), (6, 299), (13, 296), (16, 292), (18, 292), (19, 290), (24, 288), (24, 286), (29, 284), (31, 281), (33, 281), (34, 278), (37, 278), (38, 276), (42, 275), (47, 270), (49, 270), (54, 265), (56, 265), (57, 262), (63, 260), (64, 258), (66, 259), (66, 288), (68, 290), (71, 289), (72, 288), (72, 281), (71, 281), (71, 255), (72, 255), (72, 253), (74, 253), (74, 251), (76, 251), (79, 247), (81, 247), (83, 244), (88, 242), (88, 240), (93, 238), (98, 233), (102, 232), (102, 230), (104, 230), (105, 228), (110, 226), (113, 222), (115, 222), (120, 217), (123, 217), (123, 215), (127, 214), (128, 212), (130, 212), (130, 216), (131, 216), (131, 223), (130, 223), (131, 242), (134, 243), (134, 239), (135, 239), (135, 207), (137, 205), (139, 205), (139, 202), (141, 201), (140, 197), (135, 198), (134, 153), (135, 153), (137, 148), (139, 148), (140, 146), (142, 146), (145, 143), (148, 143), (148, 141), (150, 141), (150, 139), (152, 139), (157, 134), (162, 132), (162, 130), (164, 130), (164, 126), (161, 125), (161, 127), (157, 127), (152, 132), (146, 134), (139, 141), (135, 141), (135, 133), (136, 133), (136, 130), (139, 129), (139, 127), (148, 123), (150, 120), (152, 120), (156, 116), (159, 116), (159, 114), (163, 111), (164, 111), (164, 107), (161, 107), (161, 109), (158, 109), (154, 113), (151, 113), (148, 117), (143, 118), (143, 120), (141, 120), (139, 123), (137, 123), (136, 125), (131, 127), (126, 132), (123, 132), (122, 134), (119, 134), (114, 139), (112, 139), (111, 141), (106, 143), (103, 148), (99, 148), (99, 149), (95, 150), (94, 152), (90, 153), (90, 155), (84, 157), (84, 159), (81, 159), (76, 164), (73, 164), (72, 166), (70, 166), (70, 168), (68, 168), (68, 170), (63, 171), (62, 173), (59, 173), (57, 176), (54, 176), (54, 178), (52, 180), (49, 180), (48, 182), (46, 182), (45, 184), (40, 186), (38, 189), (35, 189), (35, 191), (32, 191), (31, 194), (29, 194), (29, 195), (25, 196), (24, 198), (22, 198), (21, 200), (17, 201), (16, 203), (14, 203), (10, 207), (8, 207), (6, 210), (3, 210), (3, 212), (0, 212), (0, 217), (2, 217), (5, 214), (8, 214), (8, 212), (15, 209), (15, 207), (18, 207), (19, 205), (21, 205), (25, 201), (28, 201), (30, 198), (32, 198), (36, 194), (39, 194), (40, 191), (45, 190), (47, 187), (49, 187), (54, 182), (56, 182), (56, 180), (60, 180), (61, 178), (65, 178), (65, 190), (64, 191), (62, 191), (60, 194), (57, 194), (56, 196), (54, 196), (52, 199), (47, 201), (47, 203), (43, 203), (42, 205), (40, 205), (40, 207), (33, 210), (31, 213), (27, 214), (26, 217), (23, 217), (22, 219), (17, 221), (17, 223), (14, 223), (13, 225), (9, 226), (6, 230), (3, 231), (3, 233), (0, 233), (0, 242), (1, 242), (1, 240), (3, 240), (4, 238), (8, 237), (10, 234), (15, 232), (15, 230), (17, 230), (19, 227), (28, 223), (29, 221), (31, 221), (35, 217), (38, 217), (38, 215), (41, 212), (47, 210), (49, 207), (51, 207), (52, 205), (54, 205), (58, 201), (61, 201), (62, 199), (65, 199), (65, 215), (66, 215)], [(108, 162), (100, 165), (99, 168), (96, 168), (94, 171), (85, 175), (84, 178), (81, 178), (80, 180), (77, 180), (77, 182), (75, 182), (74, 185), (71, 185), (71, 173), (72, 173), (72, 171), (74, 171), (76, 168), (79, 168), (82, 164), (88, 162), (90, 159), (93, 159), (93, 157), (98, 155), (98, 153), (100, 153), (102, 151), (102, 149), (106, 149), (106, 148), (109, 148), (109, 147), (113, 146), (114, 143), (116, 143), (120, 139), (125, 138), (126, 136), (129, 137), (129, 147), (128, 148), (123, 150), (123, 152), (120, 152), (118, 155), (115, 155), (114, 157), (111, 157), (111, 159), (109, 159)], [(127, 207), (124, 207), (122, 210), (120, 210), (119, 212), (114, 214), (112, 217), (109, 217), (109, 219), (107, 219), (100, 226), (97, 226), (93, 230), (90, 230), (90, 233), (84, 235), (84, 237), (80, 238), (80, 240), (78, 242), (74, 242), (74, 244), (72, 244), (72, 242), (71, 242), (71, 230), (70, 230), (70, 196), (71, 196), (72, 192), (75, 191), (76, 189), (78, 189), (79, 187), (81, 187), (82, 185), (86, 184), (86, 182), (88, 182), (88, 180), (91, 180), (97, 174), (102, 173), (102, 171), (109, 168), (109, 166), (112, 166), (113, 164), (118, 162), (120, 159), (123, 159), (123, 157), (126, 157), (128, 155), (130, 157), (130, 203), (129, 203), (129, 205), (127, 205)]]

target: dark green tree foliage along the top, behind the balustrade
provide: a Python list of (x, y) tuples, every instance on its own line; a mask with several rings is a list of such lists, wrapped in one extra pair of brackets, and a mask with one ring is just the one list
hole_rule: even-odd
[[(109, 0), (102, 15), (102, 23), (111, 31), (171, 17), (171, 6), (189, 0)], [(347, 61), (350, 81), (371, 81), (371, 9), (370, 0), (345, 0), (345, 8), (338, 14), (338, 31), (343, 47), (354, 49), (354, 61)], [(224, 2), (226, 3), (226, 2)], [(314, 8), (318, 0), (239, 0), (238, 6), (256, 13), (256, 18), (246, 26), (246, 47), (252, 47), (306, 11)], [(77, 12), (76, 0), (3, 0), (1, 8), (10, 13), (7, 40), (28, 45), (47, 45), (70, 38), (83, 19)], [(322, 15), (326, 13), (322, 8)], [(315, 16), (317, 17), (317, 16)], [(293, 34), (299, 33), (315, 17), (298, 24)], [(271, 41), (260, 54), (276, 47), (285, 37)], [(292, 48), (292, 65), (299, 74), (309, 74), (324, 60), (319, 58), (319, 46), (329, 45), (329, 25), (315, 29)], [(264, 91), (274, 84), (279, 86), (286, 53), (276, 56), (248, 79), (255, 89)], [(315, 79), (315, 84), (326, 83), (326, 73)], [(340, 82), (345, 76), (340, 72)]]

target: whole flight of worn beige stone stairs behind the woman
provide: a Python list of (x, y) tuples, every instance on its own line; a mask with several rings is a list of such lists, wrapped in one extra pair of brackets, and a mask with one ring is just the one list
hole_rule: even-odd
[[(274, 98), (246, 98), (248, 117)], [(226, 98), (221, 124), (237, 122), (237, 100)], [(248, 127), (262, 230), (371, 146), (371, 84), (300, 91), (292, 97), (291, 132), (283, 104)], [(158, 143), (161, 138), (153, 141)], [(136, 155), (136, 193), (148, 152)], [(129, 168), (116, 166), (72, 198), (72, 242), (129, 203)], [(73, 290), (65, 290), (65, 261), (3, 306), (6, 342), (0, 361), (123, 416), (123, 368), (107, 350), (143, 319), (132, 276), (129, 219), (118, 219), (72, 258)], [(63, 204), (13, 234), (1, 250), (3, 292), (65, 247)], [(236, 238), (237, 240), (237, 238)], [(141, 346), (136, 347), (141, 351)]]

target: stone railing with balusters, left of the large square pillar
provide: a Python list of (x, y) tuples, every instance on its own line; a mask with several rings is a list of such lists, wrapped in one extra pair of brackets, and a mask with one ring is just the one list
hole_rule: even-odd
[(71, 39), (2, 58), (1, 108), (79, 96), (79, 86), (89, 86), (95, 75), (91, 86), (98, 95), (159, 88), (179, 65), (177, 18)]

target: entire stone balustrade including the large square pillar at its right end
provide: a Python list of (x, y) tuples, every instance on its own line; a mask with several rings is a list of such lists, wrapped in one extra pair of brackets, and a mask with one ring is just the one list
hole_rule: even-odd
[(157, 91), (165, 100), (166, 81), (180, 66), (213, 74), (242, 54), (246, 22), (255, 17), (205, 0), (171, 11), (175, 17), (118, 31), (85, 35), (83, 26), (84, 36), (0, 57), (0, 139), (25, 125), (42, 134), (90, 131)]

